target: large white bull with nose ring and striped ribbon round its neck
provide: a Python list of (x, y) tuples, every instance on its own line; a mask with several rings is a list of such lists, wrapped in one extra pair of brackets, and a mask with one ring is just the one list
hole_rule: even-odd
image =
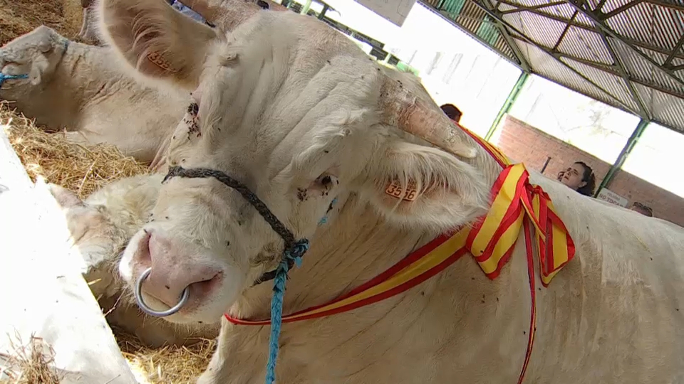
[[(133, 235), (120, 263), (129, 284), (151, 271), (142, 284), (147, 304), (168, 309), (187, 289), (187, 304), (169, 321), (269, 318), (271, 286), (252, 282), (278, 265), (284, 240), (246, 189), (311, 242), (287, 282), (286, 313), (349, 292), (487, 212), (502, 168), (417, 79), (373, 63), (314, 18), (242, 18), (241, 2), (231, 5), (242, 23), (215, 30), (161, 0), (100, 2), (100, 31), (124, 68), (192, 92), (169, 163), (222, 171), (245, 187), (181, 176), (162, 186), (156, 220)], [(406, 133), (430, 130), (423, 136), (449, 153)], [(413, 184), (415, 201), (385, 193), (390, 181)], [(576, 255), (535, 290), (537, 337), (524, 383), (682, 382), (684, 231), (539, 174), (531, 181), (553, 199)], [(278, 383), (515, 383), (529, 308), (521, 235), (497, 279), (466, 255), (390, 299), (284, 324)], [(198, 382), (262, 383), (269, 331), (224, 320)]]

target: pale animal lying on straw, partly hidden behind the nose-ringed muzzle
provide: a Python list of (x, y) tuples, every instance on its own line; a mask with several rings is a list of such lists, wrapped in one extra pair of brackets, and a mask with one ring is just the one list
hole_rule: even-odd
[(122, 178), (92, 193), (85, 201), (66, 188), (50, 184), (63, 208), (73, 245), (83, 256), (89, 282), (109, 324), (135, 334), (150, 347), (189, 345), (199, 338), (215, 338), (214, 324), (174, 324), (142, 311), (118, 274), (121, 252), (147, 220), (159, 196), (163, 175)]

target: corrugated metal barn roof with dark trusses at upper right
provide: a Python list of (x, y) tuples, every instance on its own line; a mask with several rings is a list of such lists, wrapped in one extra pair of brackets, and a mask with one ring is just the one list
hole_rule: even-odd
[(522, 70), (684, 133), (684, 0), (421, 0)]

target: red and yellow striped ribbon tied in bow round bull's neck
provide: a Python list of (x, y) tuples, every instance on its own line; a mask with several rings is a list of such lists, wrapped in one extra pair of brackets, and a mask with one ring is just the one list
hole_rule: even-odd
[[(487, 277), (495, 279), (511, 257), (522, 228), (527, 250), (527, 272), (532, 299), (527, 352), (518, 381), (522, 383), (532, 354), (537, 323), (530, 223), (534, 225), (535, 238), (539, 242), (539, 269), (541, 282), (545, 287), (559, 270), (572, 260), (575, 247), (568, 230), (554, 210), (551, 198), (540, 186), (529, 182), (529, 174), (525, 166), (512, 164), (507, 156), (495, 146), (477, 137), (465, 127), (460, 125), (459, 127), (486, 149), (503, 168), (492, 187), (492, 206), (487, 215), (477, 220), (472, 228), (462, 227), (435, 238), (351, 292), (326, 304), (283, 316), (282, 322), (290, 323), (331, 316), (388, 299), (424, 282), (452, 265), (467, 252), (475, 257)], [(225, 316), (233, 324), (271, 324), (270, 320), (236, 319), (229, 314)]]

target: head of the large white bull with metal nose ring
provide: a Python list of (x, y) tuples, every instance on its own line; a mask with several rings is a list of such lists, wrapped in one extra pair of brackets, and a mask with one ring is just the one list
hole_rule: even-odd
[[(296, 237), (316, 242), (326, 215), (343, 232), (335, 198), (335, 208), (348, 209), (350, 199), (371, 204), (388, 225), (423, 232), (484, 212), (488, 187), (472, 165), (481, 156), (475, 143), (453, 132), (417, 79), (374, 63), (314, 18), (259, 11), (221, 31), (162, 0), (103, 0), (100, 23), (138, 79), (192, 92), (169, 164), (237, 179)], [(391, 183), (415, 193), (395, 198)], [(188, 288), (189, 301), (168, 320), (216, 321), (282, 251), (283, 240), (238, 191), (215, 178), (175, 177), (120, 271), (133, 283), (151, 267), (142, 294), (155, 309)]]

